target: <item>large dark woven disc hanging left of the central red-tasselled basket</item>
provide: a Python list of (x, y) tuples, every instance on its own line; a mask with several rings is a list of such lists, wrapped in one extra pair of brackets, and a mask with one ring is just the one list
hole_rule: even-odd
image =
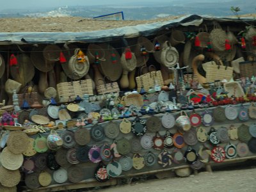
[[(117, 81), (122, 76), (123, 70), (120, 62), (120, 54), (109, 44), (100, 44), (100, 47), (106, 52), (105, 60), (100, 61), (102, 74), (108, 77), (110, 81)], [(115, 54), (115, 61), (113, 61), (112, 54)]]

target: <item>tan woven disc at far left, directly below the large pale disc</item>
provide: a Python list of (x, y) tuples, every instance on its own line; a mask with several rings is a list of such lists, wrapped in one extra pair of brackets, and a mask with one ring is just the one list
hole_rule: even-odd
[(4, 187), (12, 188), (20, 182), (19, 170), (7, 170), (3, 166), (0, 167), (0, 182)]

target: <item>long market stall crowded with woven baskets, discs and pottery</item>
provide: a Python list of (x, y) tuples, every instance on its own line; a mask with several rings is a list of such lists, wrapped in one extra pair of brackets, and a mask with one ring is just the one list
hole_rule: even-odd
[(0, 33), (0, 189), (255, 158), (254, 22), (190, 15), (94, 36)]

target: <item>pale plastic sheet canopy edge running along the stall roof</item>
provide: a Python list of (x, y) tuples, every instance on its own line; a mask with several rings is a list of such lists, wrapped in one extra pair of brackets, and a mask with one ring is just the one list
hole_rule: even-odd
[(199, 26), (204, 20), (218, 22), (255, 22), (253, 17), (210, 17), (207, 15), (186, 15), (178, 19), (136, 26), (124, 26), (99, 31), (84, 32), (15, 32), (0, 33), (0, 44), (58, 44), (65, 42), (109, 42), (121, 37), (134, 38), (136, 36), (156, 35), (159, 31), (178, 26)]

